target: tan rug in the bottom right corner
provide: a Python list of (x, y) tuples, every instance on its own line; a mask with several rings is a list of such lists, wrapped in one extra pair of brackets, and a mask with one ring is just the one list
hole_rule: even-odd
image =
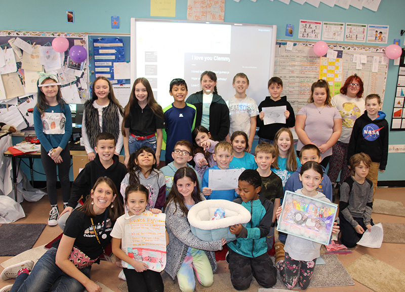
[(405, 287), (405, 273), (368, 254), (361, 255), (346, 269), (355, 281), (376, 292), (403, 291)]

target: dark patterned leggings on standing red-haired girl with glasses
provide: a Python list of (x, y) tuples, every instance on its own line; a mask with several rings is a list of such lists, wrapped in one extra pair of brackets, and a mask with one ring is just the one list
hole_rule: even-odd
[(340, 174), (340, 183), (342, 184), (346, 178), (350, 176), (350, 169), (347, 162), (347, 150), (349, 149), (348, 143), (342, 143), (337, 141), (333, 145), (332, 151), (333, 155), (329, 164), (328, 176), (331, 179), (331, 182), (334, 183), (338, 180), (339, 172)]

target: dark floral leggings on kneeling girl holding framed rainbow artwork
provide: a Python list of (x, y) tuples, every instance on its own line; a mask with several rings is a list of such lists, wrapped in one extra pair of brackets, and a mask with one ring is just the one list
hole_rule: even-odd
[(296, 261), (290, 258), (288, 252), (285, 252), (284, 259), (284, 262), (280, 262), (280, 277), (286, 287), (293, 289), (298, 282), (301, 289), (308, 288), (316, 259), (309, 262)]

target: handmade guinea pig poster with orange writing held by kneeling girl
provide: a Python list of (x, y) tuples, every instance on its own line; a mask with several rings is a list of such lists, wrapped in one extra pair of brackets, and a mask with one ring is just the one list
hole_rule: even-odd
[[(148, 269), (161, 272), (166, 266), (166, 214), (145, 211), (126, 218), (125, 249), (130, 258), (148, 265)], [(134, 269), (123, 261), (123, 267)]]

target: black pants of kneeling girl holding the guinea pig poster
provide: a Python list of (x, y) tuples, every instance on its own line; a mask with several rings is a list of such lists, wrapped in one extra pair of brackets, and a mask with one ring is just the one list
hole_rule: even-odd
[(146, 270), (138, 273), (134, 269), (123, 268), (129, 292), (163, 292), (160, 273)]

